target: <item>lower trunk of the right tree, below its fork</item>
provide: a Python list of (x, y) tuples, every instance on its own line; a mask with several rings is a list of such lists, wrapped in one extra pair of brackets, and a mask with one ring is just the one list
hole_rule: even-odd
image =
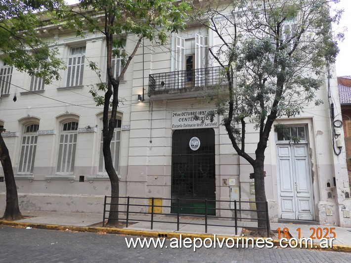
[[(258, 220), (258, 234), (260, 236), (269, 236), (270, 233), (270, 224), (269, 220), (267, 222), (266, 220), (266, 204), (267, 198), (265, 196), (265, 190), (264, 190), (264, 157), (263, 160), (256, 160), (254, 167), (254, 174), (255, 174), (255, 201), (260, 202), (256, 203), (257, 207), (257, 218)], [(264, 203), (262, 203), (264, 202)], [(268, 225), (267, 225), (268, 223)], [(268, 227), (268, 233), (267, 233), (267, 227)]]

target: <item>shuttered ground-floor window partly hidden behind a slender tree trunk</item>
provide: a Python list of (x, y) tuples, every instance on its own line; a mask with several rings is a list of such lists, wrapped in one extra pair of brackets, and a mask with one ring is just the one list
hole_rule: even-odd
[[(122, 124), (121, 120), (116, 120), (115, 130), (110, 144), (112, 163), (113, 163), (113, 167), (117, 172), (119, 170), (119, 160), (120, 160), (121, 124)], [(104, 161), (104, 154), (103, 154), (102, 147), (103, 147), (103, 135), (101, 132), (98, 174), (107, 175), (105, 170), (105, 161)]]

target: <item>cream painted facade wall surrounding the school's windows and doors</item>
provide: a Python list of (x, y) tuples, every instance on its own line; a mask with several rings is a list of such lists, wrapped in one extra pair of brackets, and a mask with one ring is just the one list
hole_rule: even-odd
[[(191, 28), (186, 34), (196, 32), (199, 30)], [(220, 44), (218, 38), (210, 32), (208, 34), (209, 44)], [(52, 37), (58, 42), (57, 46), (63, 59), (68, 57), (70, 47), (86, 45), (87, 59), (83, 87), (66, 88), (67, 73), (62, 71), (62, 79), (45, 86), (44, 92), (40, 93), (45, 97), (28, 92), (21, 93), (26, 90), (19, 87), (29, 89), (30, 77), (13, 70), (10, 94), (2, 97), (0, 101), (0, 119), (7, 130), (4, 139), (11, 154), (15, 174), (24, 125), (28, 121), (37, 120), (40, 124), (39, 130), (43, 131), (41, 132), (43, 134), (38, 135), (33, 175), (16, 175), (20, 208), (99, 213), (103, 208), (102, 197), (110, 194), (110, 183), (106, 176), (97, 173), (102, 107), (95, 106), (88, 92), (90, 85), (98, 82), (96, 74), (88, 67), (88, 60), (98, 63), (104, 74), (104, 41), (98, 35), (88, 35), (84, 40), (77, 39), (71, 34)], [(170, 72), (172, 69), (170, 51), (174, 43), (172, 37), (175, 36), (170, 35), (170, 44), (165, 47), (145, 41), (144, 47), (138, 49), (120, 85), (119, 95), (124, 99), (119, 107), (119, 117), (122, 119), (119, 167), (121, 196), (170, 198), (174, 132), (171, 129), (172, 113), (178, 110), (215, 109), (214, 104), (201, 103), (197, 98), (199, 93), (196, 92), (188, 94), (175, 92), (158, 97), (147, 95), (149, 74)], [(127, 52), (132, 51), (134, 43), (135, 36), (128, 35)], [(211, 60), (209, 63), (211, 64)], [(345, 192), (350, 193), (345, 148), (339, 156), (333, 153), (331, 146), (333, 128), (329, 118), (327, 87), (326, 81), (317, 94), (318, 98), (324, 100), (324, 104), (320, 106), (311, 104), (305, 108), (301, 116), (280, 118), (276, 124), (307, 127), (313, 219), (323, 224), (351, 226), (350, 219), (345, 217), (347, 213), (344, 215), (344, 210), (351, 209), (350, 199), (345, 199)], [(337, 85), (333, 79), (330, 87), (336, 112), (340, 115)], [(142, 95), (143, 90), (145, 100), (138, 102), (138, 94)], [(15, 94), (17, 101), (13, 102)], [(56, 175), (61, 122), (72, 118), (79, 123), (74, 175)], [(216, 143), (216, 199), (230, 200), (229, 179), (235, 179), (236, 186), (240, 187), (240, 199), (254, 200), (255, 195), (250, 191), (253, 179), (249, 177), (249, 174), (253, 173), (252, 167), (235, 153), (224, 127), (213, 129)], [(247, 131), (246, 149), (254, 156), (258, 133), (254, 129), (254, 124), (249, 124)], [(276, 133), (271, 131), (265, 155), (265, 189), (271, 221), (277, 221), (281, 214), (279, 201), (281, 175), (278, 173), (275, 138)], [(341, 140), (343, 143), (343, 138)], [(0, 176), (3, 176), (2, 171)], [(84, 176), (84, 182), (79, 181), (80, 176)], [(331, 182), (329, 187), (327, 182)], [(328, 198), (328, 192), (332, 193), (332, 198)], [(0, 193), (0, 208), (4, 208), (4, 182), (0, 182)], [(229, 203), (222, 203), (220, 206), (229, 208)], [(226, 213), (231, 214), (221, 213), (224, 216)]]

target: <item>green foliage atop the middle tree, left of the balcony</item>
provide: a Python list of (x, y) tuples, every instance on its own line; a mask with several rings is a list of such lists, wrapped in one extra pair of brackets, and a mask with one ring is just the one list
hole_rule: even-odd
[[(64, 26), (76, 30), (77, 36), (89, 33), (102, 34), (106, 38), (107, 85), (98, 85), (98, 90), (118, 92), (119, 81), (123, 78), (129, 63), (142, 39), (166, 44), (169, 32), (177, 32), (185, 26), (185, 14), (190, 6), (173, 0), (81, 0), (78, 7), (57, 10)], [(126, 40), (129, 34), (139, 39), (131, 53), (127, 53)], [(130, 49), (131, 50), (131, 49)], [(113, 56), (122, 58), (124, 70), (120, 76), (113, 76), (110, 69)], [(90, 68), (98, 71), (97, 65)], [(100, 77), (100, 75), (99, 75)], [(104, 83), (104, 81), (101, 81)], [(90, 90), (97, 105), (104, 104), (103, 97), (96, 89)], [(116, 105), (118, 101), (115, 101)], [(113, 104), (113, 102), (112, 102)]]

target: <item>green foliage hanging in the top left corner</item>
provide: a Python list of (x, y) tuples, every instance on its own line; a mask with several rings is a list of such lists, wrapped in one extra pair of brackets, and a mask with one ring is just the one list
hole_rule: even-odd
[(65, 68), (57, 58), (57, 49), (50, 48), (52, 43), (37, 34), (39, 28), (51, 23), (41, 18), (43, 12), (58, 5), (60, 1), (41, 0), (1, 0), (0, 5), (0, 51), (4, 54), (1, 60), (43, 78), (45, 84), (58, 80), (58, 70)]

